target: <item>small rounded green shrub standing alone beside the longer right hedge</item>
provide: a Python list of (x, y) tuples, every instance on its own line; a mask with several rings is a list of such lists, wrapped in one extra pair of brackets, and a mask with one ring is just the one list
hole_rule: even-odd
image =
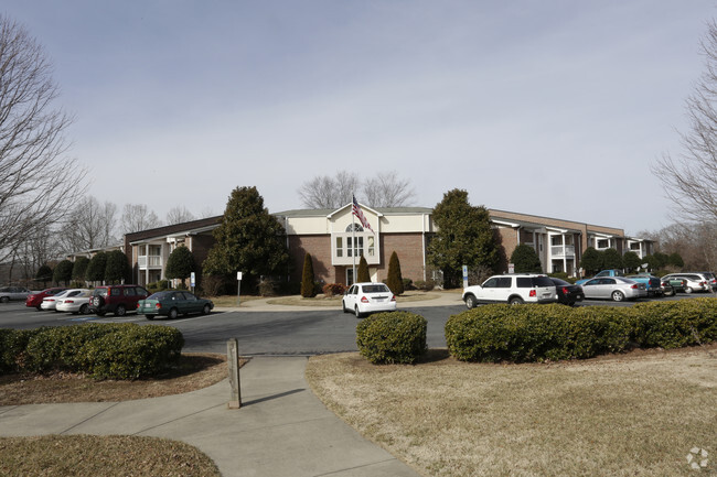
[(411, 365), (426, 353), (426, 318), (414, 313), (377, 313), (356, 326), (356, 345), (374, 365)]

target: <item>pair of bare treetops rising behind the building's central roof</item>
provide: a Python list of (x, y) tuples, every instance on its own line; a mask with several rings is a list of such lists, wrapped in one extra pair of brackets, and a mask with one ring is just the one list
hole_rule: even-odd
[(333, 177), (315, 176), (299, 188), (301, 202), (309, 208), (339, 208), (351, 203), (352, 194), (371, 207), (402, 207), (415, 196), (410, 182), (400, 180), (395, 171), (378, 174), (363, 184), (356, 173), (339, 171)]

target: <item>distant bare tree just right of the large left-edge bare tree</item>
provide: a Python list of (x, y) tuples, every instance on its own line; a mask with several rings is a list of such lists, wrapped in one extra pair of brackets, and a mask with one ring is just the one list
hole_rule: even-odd
[(86, 196), (67, 217), (60, 236), (67, 252), (107, 247), (117, 241), (117, 205)]

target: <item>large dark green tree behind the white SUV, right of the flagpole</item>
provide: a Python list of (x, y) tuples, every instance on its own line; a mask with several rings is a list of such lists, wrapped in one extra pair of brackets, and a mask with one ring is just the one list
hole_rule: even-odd
[(495, 268), (500, 256), (490, 215), (485, 207), (468, 203), (468, 192), (454, 188), (443, 194), (434, 221), (438, 231), (428, 245), (428, 261), (443, 272), (445, 288), (460, 286), (463, 265)]

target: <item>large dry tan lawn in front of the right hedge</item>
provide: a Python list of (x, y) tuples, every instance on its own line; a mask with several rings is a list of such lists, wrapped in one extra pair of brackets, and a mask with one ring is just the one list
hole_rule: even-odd
[(546, 365), (418, 366), (358, 354), (313, 357), (314, 392), (346, 422), (429, 476), (717, 474), (717, 346)]

